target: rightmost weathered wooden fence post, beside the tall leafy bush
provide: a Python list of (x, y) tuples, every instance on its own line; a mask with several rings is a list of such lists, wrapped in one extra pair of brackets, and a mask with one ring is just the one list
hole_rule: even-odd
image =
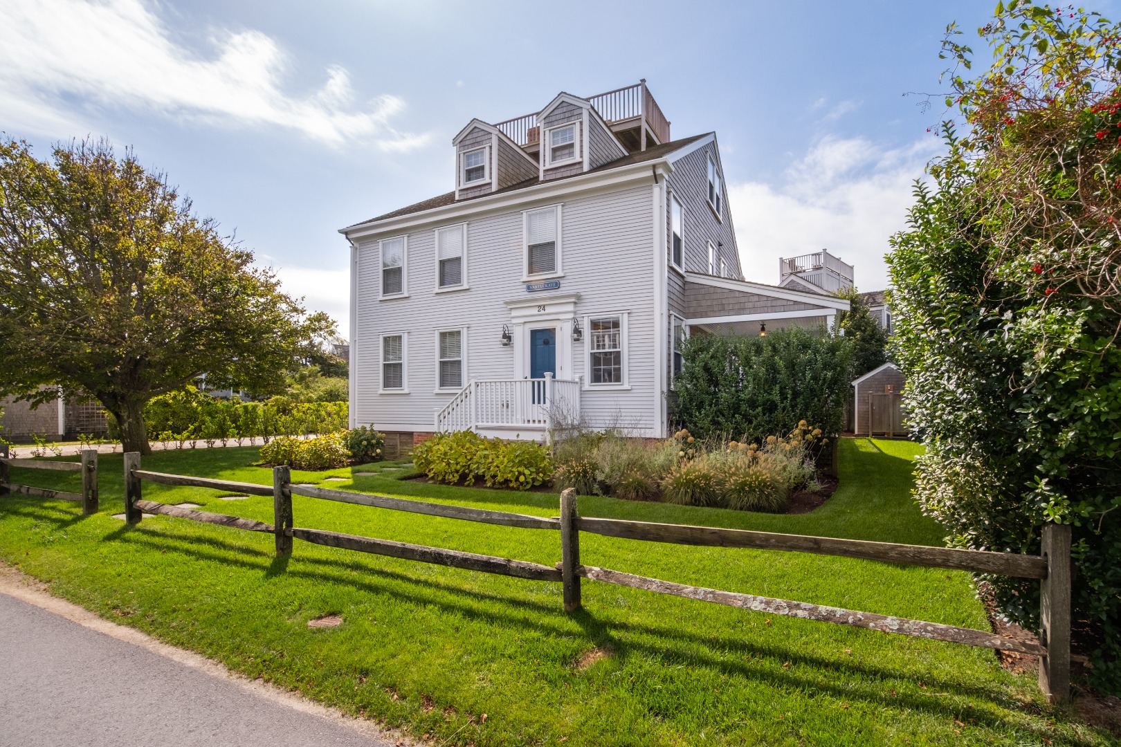
[(1071, 695), (1071, 526), (1044, 524), (1040, 554), (1047, 578), (1039, 581), (1039, 689), (1057, 703)]

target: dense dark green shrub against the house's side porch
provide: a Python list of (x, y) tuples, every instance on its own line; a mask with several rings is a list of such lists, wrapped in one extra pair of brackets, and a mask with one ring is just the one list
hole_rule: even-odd
[(852, 344), (799, 327), (767, 337), (696, 335), (674, 380), (675, 418), (696, 435), (788, 433), (803, 418), (831, 437), (851, 393)]

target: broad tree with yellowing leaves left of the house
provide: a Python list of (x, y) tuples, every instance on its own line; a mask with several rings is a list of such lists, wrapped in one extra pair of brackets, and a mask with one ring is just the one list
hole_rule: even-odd
[(0, 140), (0, 394), (92, 395), (147, 454), (152, 396), (201, 374), (278, 390), (333, 329), (252, 259), (131, 151), (71, 143), (47, 162)]

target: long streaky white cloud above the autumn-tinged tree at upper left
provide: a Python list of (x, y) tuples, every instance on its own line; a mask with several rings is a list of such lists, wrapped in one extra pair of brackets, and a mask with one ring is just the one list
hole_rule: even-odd
[(77, 105), (237, 125), (289, 128), (331, 146), (423, 144), (390, 120), (405, 103), (382, 95), (354, 105), (350, 76), (326, 71), (307, 96), (282, 88), (291, 59), (254, 30), (211, 32), (212, 54), (172, 40), (141, 0), (0, 0), (0, 128), (74, 131)]

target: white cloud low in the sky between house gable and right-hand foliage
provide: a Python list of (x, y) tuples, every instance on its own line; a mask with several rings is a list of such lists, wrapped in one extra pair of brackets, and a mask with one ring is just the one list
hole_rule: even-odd
[(778, 258), (828, 249), (855, 265), (859, 288), (886, 288), (888, 237), (906, 226), (912, 184), (939, 148), (934, 138), (881, 149), (863, 138), (826, 137), (776, 184), (729, 185), (744, 277), (777, 283)]

